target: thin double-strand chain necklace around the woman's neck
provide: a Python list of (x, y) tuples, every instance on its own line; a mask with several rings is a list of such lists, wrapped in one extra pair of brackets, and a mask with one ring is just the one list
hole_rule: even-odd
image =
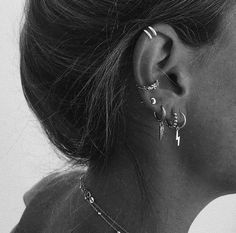
[(89, 205), (96, 211), (96, 213), (112, 228), (116, 233), (129, 233), (123, 227), (121, 227), (115, 220), (113, 220), (102, 208), (95, 202), (95, 198), (91, 192), (88, 191), (84, 184), (84, 176), (80, 177), (80, 189), (84, 195), (84, 199)]

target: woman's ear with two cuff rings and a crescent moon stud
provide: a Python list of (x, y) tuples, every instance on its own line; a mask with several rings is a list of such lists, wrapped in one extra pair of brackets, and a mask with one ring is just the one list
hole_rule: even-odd
[[(186, 113), (192, 55), (192, 50), (168, 25), (154, 25), (143, 31), (134, 49), (134, 75), (142, 101), (152, 111), (159, 112), (163, 105), (167, 117), (173, 111)], [(142, 88), (157, 80), (157, 89), (148, 91)]]

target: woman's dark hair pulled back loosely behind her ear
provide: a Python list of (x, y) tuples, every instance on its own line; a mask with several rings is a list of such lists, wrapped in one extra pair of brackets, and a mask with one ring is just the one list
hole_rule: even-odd
[(212, 43), (225, 0), (30, 0), (21, 80), (51, 142), (80, 164), (108, 158), (124, 129), (130, 54), (142, 29), (171, 25), (192, 47)]

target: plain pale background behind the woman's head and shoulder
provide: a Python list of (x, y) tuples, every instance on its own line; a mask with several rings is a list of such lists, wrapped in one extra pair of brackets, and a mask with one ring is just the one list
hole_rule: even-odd
[[(19, 221), (24, 211), (23, 194), (49, 172), (64, 166), (22, 93), (18, 44), (23, 6), (24, 0), (0, 0), (1, 233), (10, 232)], [(223, 196), (206, 206), (189, 233), (236, 233), (236, 195)]]

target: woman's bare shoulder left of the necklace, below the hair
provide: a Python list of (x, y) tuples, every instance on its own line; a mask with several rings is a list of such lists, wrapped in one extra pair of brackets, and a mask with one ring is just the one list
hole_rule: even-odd
[(79, 187), (84, 172), (80, 168), (54, 172), (35, 184), (23, 197), (26, 208), (14, 232), (91, 232), (87, 220), (92, 210)]

